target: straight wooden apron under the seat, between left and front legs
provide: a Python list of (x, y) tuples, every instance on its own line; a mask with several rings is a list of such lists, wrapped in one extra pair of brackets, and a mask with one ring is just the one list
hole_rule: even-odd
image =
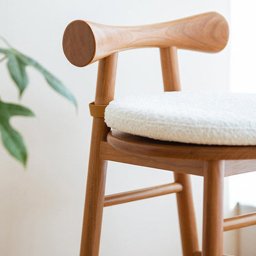
[(116, 150), (111, 147), (107, 141), (101, 142), (100, 158), (119, 163), (134, 164), (179, 173), (189, 173), (199, 176), (204, 175), (204, 161), (129, 154)]

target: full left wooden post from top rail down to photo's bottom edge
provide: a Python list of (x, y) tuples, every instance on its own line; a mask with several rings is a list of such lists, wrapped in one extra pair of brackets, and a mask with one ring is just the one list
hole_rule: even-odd
[[(99, 61), (95, 104), (113, 100), (117, 54)], [(109, 128), (103, 118), (94, 117), (80, 256), (98, 256), (102, 211), (104, 205), (107, 161), (100, 159), (100, 142), (106, 140)]]

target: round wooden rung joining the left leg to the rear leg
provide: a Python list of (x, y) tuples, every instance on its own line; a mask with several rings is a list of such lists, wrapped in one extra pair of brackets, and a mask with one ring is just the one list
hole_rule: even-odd
[(105, 196), (104, 207), (182, 191), (178, 182)]

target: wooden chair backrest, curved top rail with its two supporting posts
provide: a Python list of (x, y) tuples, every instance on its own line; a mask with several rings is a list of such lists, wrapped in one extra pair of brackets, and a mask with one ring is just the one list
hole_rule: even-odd
[[(103, 117), (104, 111), (99, 109), (114, 98), (118, 52), (159, 47), (164, 90), (178, 91), (177, 49), (219, 52), (227, 42), (227, 21), (219, 13), (209, 12), (170, 22), (130, 27), (74, 20), (65, 29), (63, 51), (77, 67), (99, 60), (95, 102), (90, 109), (94, 109), (91, 115), (95, 113), (93, 116)], [(104, 122), (101, 125), (104, 126)]]

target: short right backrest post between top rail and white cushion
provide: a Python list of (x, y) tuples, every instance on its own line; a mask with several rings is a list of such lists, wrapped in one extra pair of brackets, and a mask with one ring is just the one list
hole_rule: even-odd
[(164, 92), (180, 91), (177, 47), (160, 48)]

